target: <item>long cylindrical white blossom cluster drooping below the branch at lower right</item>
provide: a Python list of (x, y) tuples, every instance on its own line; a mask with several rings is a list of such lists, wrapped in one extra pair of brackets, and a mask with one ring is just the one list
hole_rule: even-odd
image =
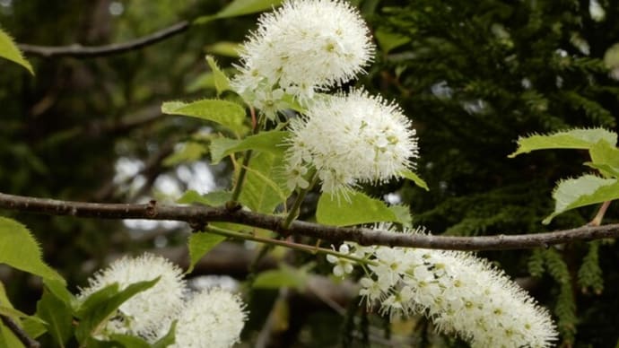
[(481, 258), (451, 250), (349, 248), (370, 261), (360, 295), (391, 318), (423, 314), (441, 332), (480, 348), (544, 348), (557, 338), (548, 311)]

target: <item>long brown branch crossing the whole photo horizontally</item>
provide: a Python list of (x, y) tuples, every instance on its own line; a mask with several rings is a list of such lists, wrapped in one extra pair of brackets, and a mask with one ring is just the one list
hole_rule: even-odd
[(149, 204), (99, 204), (59, 201), (0, 193), (0, 209), (23, 213), (71, 215), (98, 219), (147, 219), (187, 222), (192, 226), (207, 222), (236, 222), (275, 231), (283, 235), (301, 235), (333, 242), (353, 241), (363, 246), (435, 248), (450, 250), (506, 250), (548, 248), (551, 245), (619, 237), (619, 224), (583, 226), (576, 229), (536, 234), (499, 234), (484, 237), (449, 237), (377, 231), (361, 227), (325, 226), (312, 222), (292, 222), (283, 229), (283, 218), (275, 215), (230, 210), (225, 207)]

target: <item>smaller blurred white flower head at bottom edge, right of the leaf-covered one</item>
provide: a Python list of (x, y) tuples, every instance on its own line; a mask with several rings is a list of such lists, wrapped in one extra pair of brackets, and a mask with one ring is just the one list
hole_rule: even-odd
[(246, 320), (245, 305), (229, 291), (197, 293), (183, 308), (172, 348), (227, 348), (239, 342)]

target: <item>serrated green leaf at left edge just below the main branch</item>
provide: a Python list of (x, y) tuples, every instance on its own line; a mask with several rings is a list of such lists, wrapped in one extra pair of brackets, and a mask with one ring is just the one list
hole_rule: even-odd
[(43, 262), (39, 244), (31, 232), (21, 223), (4, 217), (0, 217), (0, 263), (65, 283), (60, 274)]

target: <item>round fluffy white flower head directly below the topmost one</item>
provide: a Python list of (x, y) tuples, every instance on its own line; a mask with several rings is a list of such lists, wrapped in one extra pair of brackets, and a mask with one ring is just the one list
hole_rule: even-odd
[(291, 130), (287, 172), (313, 166), (323, 192), (400, 177), (417, 157), (415, 131), (402, 110), (362, 90), (315, 100)]

